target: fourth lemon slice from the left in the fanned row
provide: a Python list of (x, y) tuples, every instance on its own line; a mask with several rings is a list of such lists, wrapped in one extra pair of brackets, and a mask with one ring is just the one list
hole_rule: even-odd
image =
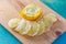
[(38, 30), (40, 30), (40, 24), (37, 24), (36, 22), (34, 22), (33, 23), (33, 28), (32, 28), (32, 30), (30, 30), (30, 32), (28, 33), (28, 35), (34, 36), (34, 35), (37, 34)]

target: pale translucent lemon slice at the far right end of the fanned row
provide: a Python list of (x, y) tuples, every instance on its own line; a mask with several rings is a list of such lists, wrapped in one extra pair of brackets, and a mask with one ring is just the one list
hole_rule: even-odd
[(44, 15), (43, 20), (44, 20), (44, 22), (47, 22), (50, 24), (53, 24), (54, 22), (57, 21), (56, 15), (53, 13)]

